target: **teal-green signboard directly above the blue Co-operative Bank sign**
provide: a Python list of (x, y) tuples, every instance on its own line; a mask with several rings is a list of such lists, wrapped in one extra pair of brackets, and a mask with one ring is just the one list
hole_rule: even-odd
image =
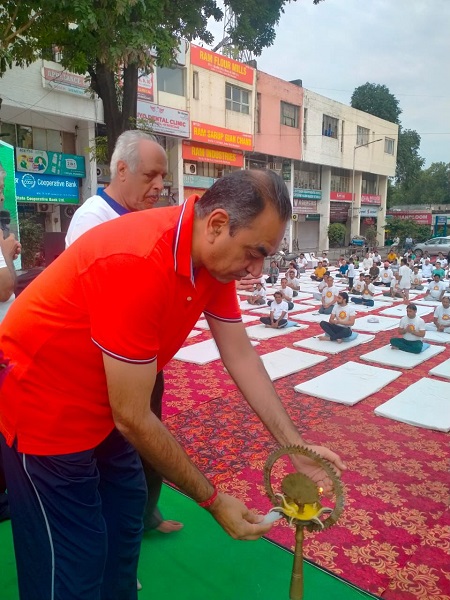
[(84, 156), (16, 148), (16, 169), (23, 173), (86, 177)]

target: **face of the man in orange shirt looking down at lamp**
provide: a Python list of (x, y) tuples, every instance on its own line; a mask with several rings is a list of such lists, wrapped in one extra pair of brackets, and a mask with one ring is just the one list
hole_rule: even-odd
[[(200, 235), (204, 238), (200, 242), (200, 262), (212, 277), (222, 283), (248, 274), (259, 277), (264, 258), (278, 248), (285, 226), (277, 211), (268, 205), (248, 227), (237, 229), (230, 236), (228, 214), (224, 209), (217, 209), (201, 225)], [(281, 285), (285, 287), (286, 280)]]

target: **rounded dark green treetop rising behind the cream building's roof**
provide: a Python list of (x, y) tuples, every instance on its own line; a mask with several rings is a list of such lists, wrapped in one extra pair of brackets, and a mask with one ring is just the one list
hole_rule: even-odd
[(369, 82), (360, 85), (353, 92), (350, 105), (391, 123), (400, 123), (402, 109), (397, 98), (385, 85)]

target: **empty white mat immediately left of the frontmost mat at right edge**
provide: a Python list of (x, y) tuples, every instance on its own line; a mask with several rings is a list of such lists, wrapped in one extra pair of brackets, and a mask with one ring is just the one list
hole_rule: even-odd
[(353, 406), (400, 377), (401, 371), (349, 361), (295, 386), (296, 392)]

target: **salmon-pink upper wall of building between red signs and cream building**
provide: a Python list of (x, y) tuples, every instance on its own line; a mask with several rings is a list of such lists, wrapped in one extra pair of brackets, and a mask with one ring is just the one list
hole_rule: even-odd
[[(303, 88), (258, 71), (256, 91), (260, 95), (260, 132), (255, 131), (255, 152), (300, 160)], [(281, 123), (281, 102), (298, 107), (297, 127)]]

